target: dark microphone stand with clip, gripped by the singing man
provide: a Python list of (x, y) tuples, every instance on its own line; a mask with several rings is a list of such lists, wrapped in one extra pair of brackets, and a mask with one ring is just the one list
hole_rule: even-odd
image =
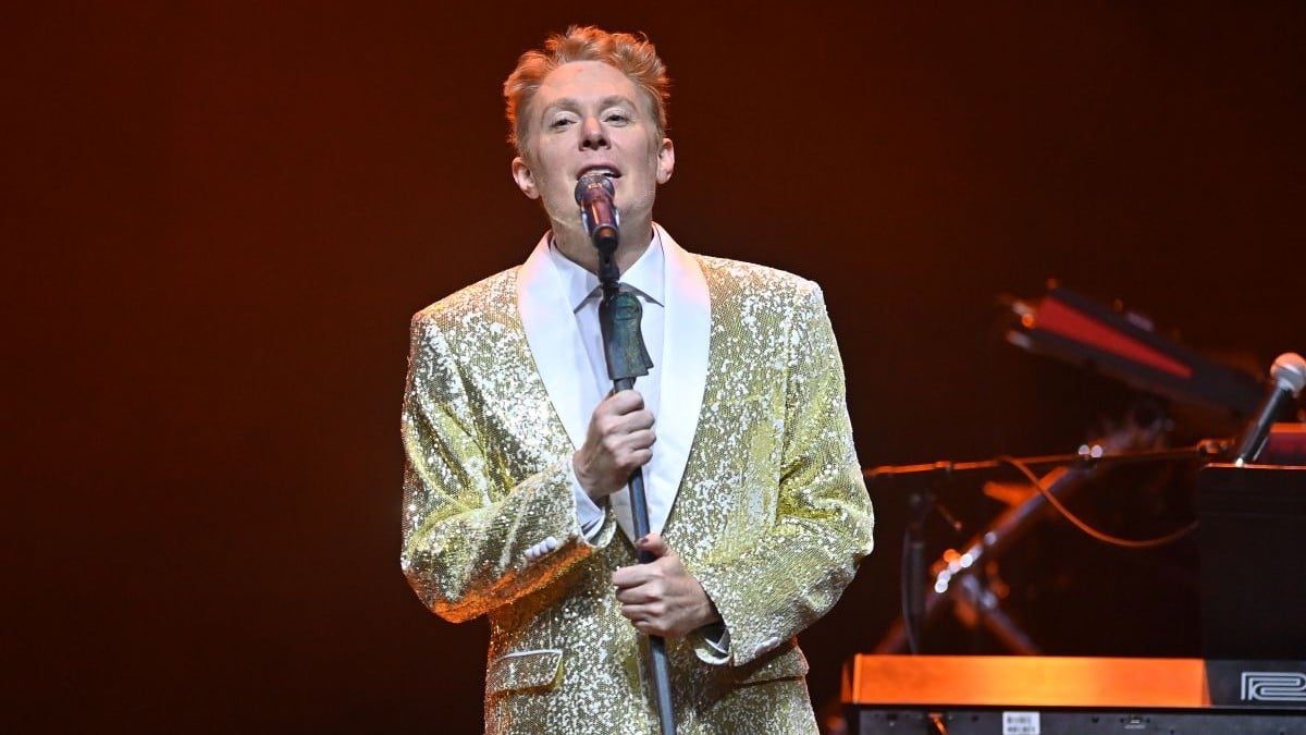
[[(598, 280), (603, 288), (603, 298), (598, 303), (598, 327), (603, 333), (603, 356), (607, 358), (607, 374), (613, 388), (624, 391), (635, 387), (635, 378), (649, 374), (653, 360), (644, 347), (640, 332), (640, 319), (644, 309), (640, 299), (622, 292), (620, 272), (616, 269), (616, 238), (602, 237), (601, 230), (592, 235), (598, 247)], [(648, 500), (644, 497), (644, 471), (636, 468), (629, 479), (631, 515), (635, 521), (635, 538), (649, 534)], [(654, 561), (652, 553), (639, 552), (640, 564)], [(653, 680), (653, 696), (657, 700), (658, 722), (662, 735), (675, 735), (675, 713), (671, 709), (671, 677), (666, 658), (666, 641), (661, 636), (649, 636), (649, 674)]]

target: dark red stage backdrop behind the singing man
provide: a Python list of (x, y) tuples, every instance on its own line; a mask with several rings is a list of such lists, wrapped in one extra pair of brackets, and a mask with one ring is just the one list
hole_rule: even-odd
[[(824, 285), (866, 466), (1074, 449), (1111, 388), (994, 328), (1049, 276), (1258, 371), (1306, 348), (1299, 3), (131, 5), (0, 30), (21, 731), (479, 728), (483, 625), (398, 570), (406, 326), (542, 231), (500, 84), (569, 22), (670, 65), (677, 238)], [(876, 500), (820, 700), (897, 606)], [(1147, 653), (1098, 633), (1049, 649)]]

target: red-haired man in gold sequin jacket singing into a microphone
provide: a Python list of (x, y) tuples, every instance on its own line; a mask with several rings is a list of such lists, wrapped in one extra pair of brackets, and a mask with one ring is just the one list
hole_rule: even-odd
[[(404, 572), (441, 617), (490, 617), (486, 732), (656, 732), (648, 636), (666, 638), (678, 732), (816, 732), (794, 636), (872, 526), (820, 289), (690, 254), (653, 222), (675, 149), (646, 39), (568, 29), (504, 94), (512, 177), (550, 230), (413, 318)], [(614, 186), (653, 360), (615, 394), (575, 199), (592, 171)]]

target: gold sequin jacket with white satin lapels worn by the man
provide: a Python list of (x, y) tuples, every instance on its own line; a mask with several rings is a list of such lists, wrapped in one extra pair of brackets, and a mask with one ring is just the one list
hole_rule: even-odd
[[(678, 732), (816, 732), (795, 634), (852, 581), (874, 522), (824, 301), (658, 233), (661, 390), (690, 396), (657, 417), (654, 451), (683, 467), (663, 536), (727, 632), (725, 654), (667, 641)], [(567, 467), (593, 381), (547, 247), (413, 318), (402, 568), (441, 617), (488, 616), (486, 732), (644, 735), (645, 642), (611, 585), (635, 551), (611, 509), (589, 541), (576, 519)]]

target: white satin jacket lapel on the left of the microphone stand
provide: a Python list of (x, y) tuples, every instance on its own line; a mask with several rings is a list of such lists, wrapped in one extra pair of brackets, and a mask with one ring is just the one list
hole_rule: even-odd
[(602, 396), (594, 386), (580, 327), (567, 303), (562, 279), (549, 260), (549, 233), (517, 273), (517, 310), (549, 400), (562, 419), (572, 447), (579, 449), (585, 443), (589, 411), (598, 405)]

